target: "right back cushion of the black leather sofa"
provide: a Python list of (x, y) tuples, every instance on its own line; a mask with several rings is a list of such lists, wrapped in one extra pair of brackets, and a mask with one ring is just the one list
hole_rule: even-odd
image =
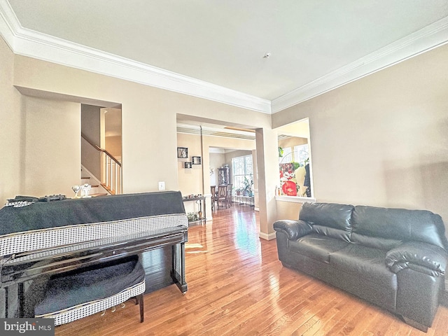
[(442, 218), (426, 210), (356, 206), (351, 241), (390, 249), (403, 241), (422, 241), (448, 248)]

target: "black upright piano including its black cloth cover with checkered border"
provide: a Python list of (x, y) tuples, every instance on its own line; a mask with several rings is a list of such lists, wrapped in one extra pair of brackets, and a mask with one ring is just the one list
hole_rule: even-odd
[(188, 218), (180, 192), (3, 207), (0, 209), (3, 316), (8, 317), (10, 302), (14, 302), (17, 305), (15, 316), (25, 317), (26, 281), (48, 279), (52, 274), (157, 248), (172, 249), (170, 276), (181, 292), (186, 293), (186, 241)]

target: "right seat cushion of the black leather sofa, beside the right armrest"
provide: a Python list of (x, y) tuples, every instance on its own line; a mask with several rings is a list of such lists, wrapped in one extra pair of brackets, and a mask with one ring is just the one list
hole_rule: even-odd
[[(342, 272), (358, 274), (381, 286), (397, 289), (396, 274), (386, 266), (386, 251), (358, 244), (349, 244), (330, 253), (330, 265)], [(366, 288), (368, 290), (368, 288)]]

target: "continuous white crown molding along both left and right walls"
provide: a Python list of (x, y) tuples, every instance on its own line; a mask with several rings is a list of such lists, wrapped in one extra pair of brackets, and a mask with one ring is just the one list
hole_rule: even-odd
[(448, 17), (298, 87), (272, 102), (26, 29), (20, 25), (7, 0), (0, 0), (0, 34), (18, 55), (269, 114), (448, 43)]

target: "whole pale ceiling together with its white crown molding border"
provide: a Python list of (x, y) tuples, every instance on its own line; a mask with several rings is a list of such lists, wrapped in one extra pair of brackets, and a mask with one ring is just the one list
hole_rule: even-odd
[(0, 18), (18, 54), (265, 113), (448, 42), (447, 0), (0, 0)]

